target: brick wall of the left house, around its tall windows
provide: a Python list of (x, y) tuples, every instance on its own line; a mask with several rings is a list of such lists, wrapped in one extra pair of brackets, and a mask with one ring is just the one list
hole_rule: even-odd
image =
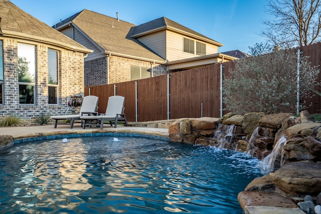
[[(18, 41), (1, 38), (4, 44), (4, 104), (0, 105), (0, 119), (14, 115), (23, 120), (35, 119), (42, 114), (63, 115), (68, 109), (71, 96), (84, 94), (83, 53), (57, 49), (45, 44), (36, 45), (35, 104), (19, 104), (18, 83)], [(58, 105), (48, 104), (48, 48), (58, 51), (59, 59), (59, 101)], [(77, 109), (79, 111), (79, 109)], [(70, 113), (70, 112), (69, 112)]]

